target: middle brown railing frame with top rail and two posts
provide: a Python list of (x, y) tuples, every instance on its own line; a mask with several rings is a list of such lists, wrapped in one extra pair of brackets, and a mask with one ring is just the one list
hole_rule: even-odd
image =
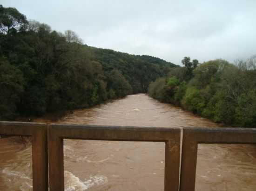
[(179, 190), (179, 128), (49, 125), (50, 191), (64, 191), (63, 139), (165, 142), (164, 191)]

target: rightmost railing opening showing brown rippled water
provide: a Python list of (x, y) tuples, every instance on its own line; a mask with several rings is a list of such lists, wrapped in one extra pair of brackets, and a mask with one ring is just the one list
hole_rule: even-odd
[(254, 191), (256, 145), (198, 144), (195, 191)]

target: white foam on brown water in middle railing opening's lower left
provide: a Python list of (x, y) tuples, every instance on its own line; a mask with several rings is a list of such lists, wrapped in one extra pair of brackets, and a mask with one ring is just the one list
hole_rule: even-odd
[(103, 185), (108, 182), (108, 178), (103, 175), (90, 175), (85, 181), (81, 181), (80, 178), (68, 171), (64, 172), (64, 176), (67, 179), (65, 191), (86, 191), (92, 186)]

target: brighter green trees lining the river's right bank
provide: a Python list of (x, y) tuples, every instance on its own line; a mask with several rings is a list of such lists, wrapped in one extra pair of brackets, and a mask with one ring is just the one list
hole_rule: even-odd
[(256, 56), (235, 64), (216, 59), (169, 71), (148, 88), (149, 96), (234, 127), (256, 127)]

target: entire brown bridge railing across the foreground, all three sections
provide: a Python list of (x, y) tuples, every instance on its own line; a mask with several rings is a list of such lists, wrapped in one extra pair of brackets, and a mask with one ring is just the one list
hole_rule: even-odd
[(195, 190), (198, 144), (256, 144), (256, 128), (120, 127), (0, 121), (0, 135), (32, 137), (34, 191), (48, 191), (48, 187), (50, 191), (64, 191), (64, 139), (165, 142), (164, 191)]

